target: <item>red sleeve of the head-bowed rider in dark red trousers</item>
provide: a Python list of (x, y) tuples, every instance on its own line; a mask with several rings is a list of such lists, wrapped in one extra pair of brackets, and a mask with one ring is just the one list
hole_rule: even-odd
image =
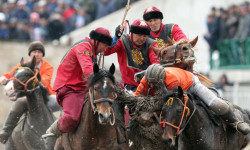
[(91, 47), (88, 44), (79, 45), (76, 47), (76, 57), (81, 66), (83, 76), (88, 79), (93, 74), (93, 61)]

